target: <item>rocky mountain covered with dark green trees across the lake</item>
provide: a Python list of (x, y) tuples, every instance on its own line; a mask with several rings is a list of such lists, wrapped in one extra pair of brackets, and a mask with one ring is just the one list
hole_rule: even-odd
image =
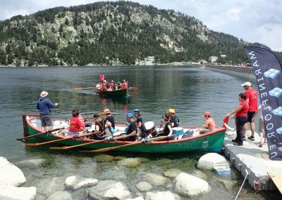
[(147, 56), (168, 63), (221, 54), (223, 62), (241, 63), (246, 44), (189, 15), (129, 1), (50, 8), (0, 22), (1, 65), (135, 65)]

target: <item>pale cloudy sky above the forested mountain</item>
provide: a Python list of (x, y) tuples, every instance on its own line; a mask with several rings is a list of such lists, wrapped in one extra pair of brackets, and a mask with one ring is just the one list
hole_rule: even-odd
[[(114, 0), (109, 0), (114, 1)], [(133, 0), (194, 16), (210, 30), (282, 51), (281, 0)], [(90, 4), (93, 0), (0, 0), (0, 20), (47, 8)]]

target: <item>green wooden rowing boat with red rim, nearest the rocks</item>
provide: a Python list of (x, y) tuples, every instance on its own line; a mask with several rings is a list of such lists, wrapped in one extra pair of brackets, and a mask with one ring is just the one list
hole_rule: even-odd
[[(64, 120), (54, 120), (52, 129), (58, 127), (68, 127), (68, 124)], [(92, 125), (94, 128), (94, 125)], [(159, 127), (154, 127), (155, 129), (159, 129)], [(196, 130), (199, 127), (183, 127), (183, 131), (186, 130)], [(23, 129), (24, 136), (31, 136), (42, 132), (41, 123), (39, 119), (39, 115), (37, 114), (23, 114)], [(125, 125), (116, 126), (116, 129), (119, 129), (120, 132), (123, 132), (125, 129)], [(115, 151), (133, 151), (133, 152), (148, 152), (148, 153), (176, 153), (176, 152), (192, 152), (192, 151), (204, 151), (204, 152), (219, 152), (223, 146), (223, 140), (226, 134), (226, 127), (216, 127), (216, 130), (213, 132), (208, 132), (205, 134), (195, 134), (192, 137), (186, 137), (182, 139), (179, 137), (178, 139), (168, 140), (168, 141), (156, 141), (149, 144), (136, 144), (131, 146), (125, 146)], [(63, 136), (59, 135), (38, 135), (42, 139), (56, 140), (63, 139)], [(66, 138), (66, 137), (65, 137)], [(92, 139), (67, 139), (59, 142), (54, 142), (58, 144), (63, 144), (66, 146), (78, 145), (93, 142)], [(84, 145), (84, 148), (88, 149), (102, 149), (111, 146), (120, 146), (123, 144), (130, 144), (133, 142), (122, 142), (122, 141), (114, 141), (114, 142), (100, 142), (96, 144)]]

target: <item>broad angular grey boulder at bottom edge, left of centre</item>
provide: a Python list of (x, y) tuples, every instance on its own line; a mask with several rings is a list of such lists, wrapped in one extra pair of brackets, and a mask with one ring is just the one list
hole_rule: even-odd
[(131, 194), (123, 182), (102, 180), (97, 185), (89, 188), (91, 199), (129, 199)]

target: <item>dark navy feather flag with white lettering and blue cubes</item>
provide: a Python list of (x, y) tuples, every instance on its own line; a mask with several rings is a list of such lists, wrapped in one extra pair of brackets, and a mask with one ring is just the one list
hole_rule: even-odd
[(244, 49), (257, 80), (269, 158), (279, 161), (282, 160), (281, 62), (267, 49), (256, 46), (245, 46)]

